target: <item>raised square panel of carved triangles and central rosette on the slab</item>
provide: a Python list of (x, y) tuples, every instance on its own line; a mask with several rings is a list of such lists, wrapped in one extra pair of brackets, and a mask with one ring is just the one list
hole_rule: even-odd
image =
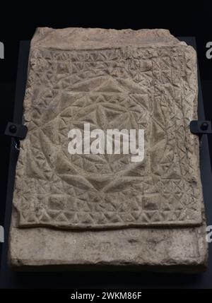
[[(18, 226), (66, 229), (201, 223), (194, 50), (33, 49), (13, 204)], [(131, 155), (70, 155), (68, 132), (144, 129)]]

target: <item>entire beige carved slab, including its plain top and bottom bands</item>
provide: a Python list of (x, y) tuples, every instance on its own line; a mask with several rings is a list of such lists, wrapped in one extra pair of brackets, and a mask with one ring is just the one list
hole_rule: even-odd
[[(167, 30), (39, 28), (31, 42), (10, 261), (206, 266), (196, 52)], [(131, 155), (69, 155), (68, 132), (144, 129)], [(49, 228), (54, 227), (54, 229)]]

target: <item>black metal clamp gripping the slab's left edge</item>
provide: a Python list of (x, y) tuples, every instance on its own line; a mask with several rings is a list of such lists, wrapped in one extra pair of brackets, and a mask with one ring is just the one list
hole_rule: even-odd
[(27, 133), (28, 133), (27, 126), (22, 124), (16, 124), (13, 122), (8, 122), (6, 126), (6, 130), (4, 131), (4, 134), (6, 136), (11, 136), (15, 139), (16, 150), (20, 149), (20, 140), (23, 140)]

